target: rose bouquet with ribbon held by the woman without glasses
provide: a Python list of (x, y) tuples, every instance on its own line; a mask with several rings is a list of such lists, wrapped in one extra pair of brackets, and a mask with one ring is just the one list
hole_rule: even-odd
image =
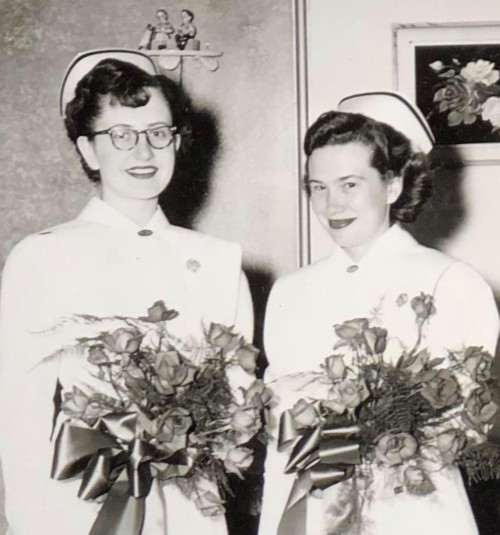
[(422, 293), (409, 304), (417, 327), (411, 349), (391, 360), (387, 330), (367, 318), (335, 325), (336, 353), (310, 380), (328, 394), (302, 398), (282, 413), (278, 446), (290, 447), (285, 471), (297, 474), (282, 523), (307, 493), (347, 480), (351, 515), (344, 521), (360, 522), (375, 466), (385, 469), (386, 490), (396, 494), (432, 493), (433, 473), (450, 465), (463, 466), (472, 480), (500, 478), (492, 356), (466, 347), (433, 358), (421, 347), (436, 313), (433, 298)]

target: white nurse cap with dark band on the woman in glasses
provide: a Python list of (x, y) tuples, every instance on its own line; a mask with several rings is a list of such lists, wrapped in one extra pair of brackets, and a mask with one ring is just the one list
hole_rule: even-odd
[(100, 48), (81, 52), (80, 54), (77, 54), (69, 64), (61, 84), (59, 111), (62, 117), (65, 116), (66, 105), (75, 96), (75, 89), (78, 82), (101, 60), (109, 58), (133, 63), (149, 74), (158, 74), (158, 70), (156, 69), (153, 60), (140, 50), (128, 48)]

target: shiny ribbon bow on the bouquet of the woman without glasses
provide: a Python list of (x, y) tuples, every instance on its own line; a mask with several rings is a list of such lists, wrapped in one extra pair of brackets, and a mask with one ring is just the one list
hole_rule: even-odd
[(296, 439), (285, 467), (285, 473), (295, 472), (293, 487), (283, 511), (278, 535), (303, 535), (307, 523), (307, 495), (324, 490), (349, 479), (354, 467), (361, 463), (358, 425), (325, 425), (305, 431), (295, 426), (290, 411), (280, 418), (278, 449)]

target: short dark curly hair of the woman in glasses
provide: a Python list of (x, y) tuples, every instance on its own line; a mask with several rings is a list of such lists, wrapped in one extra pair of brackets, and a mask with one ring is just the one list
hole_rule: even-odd
[[(106, 97), (110, 97), (111, 104), (138, 108), (149, 102), (151, 88), (161, 91), (170, 107), (173, 124), (181, 136), (186, 137), (181, 143), (181, 150), (189, 145), (189, 108), (180, 88), (165, 76), (151, 75), (132, 63), (109, 58), (100, 61), (78, 82), (75, 96), (66, 106), (64, 124), (77, 151), (76, 140), (94, 131), (94, 122), (101, 113)], [(78, 153), (89, 179), (99, 182), (99, 171), (91, 169), (79, 151)]]

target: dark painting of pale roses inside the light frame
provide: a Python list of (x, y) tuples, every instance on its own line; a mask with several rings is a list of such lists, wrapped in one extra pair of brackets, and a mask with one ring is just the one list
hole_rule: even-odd
[(438, 145), (500, 142), (500, 44), (417, 46), (415, 75)]

